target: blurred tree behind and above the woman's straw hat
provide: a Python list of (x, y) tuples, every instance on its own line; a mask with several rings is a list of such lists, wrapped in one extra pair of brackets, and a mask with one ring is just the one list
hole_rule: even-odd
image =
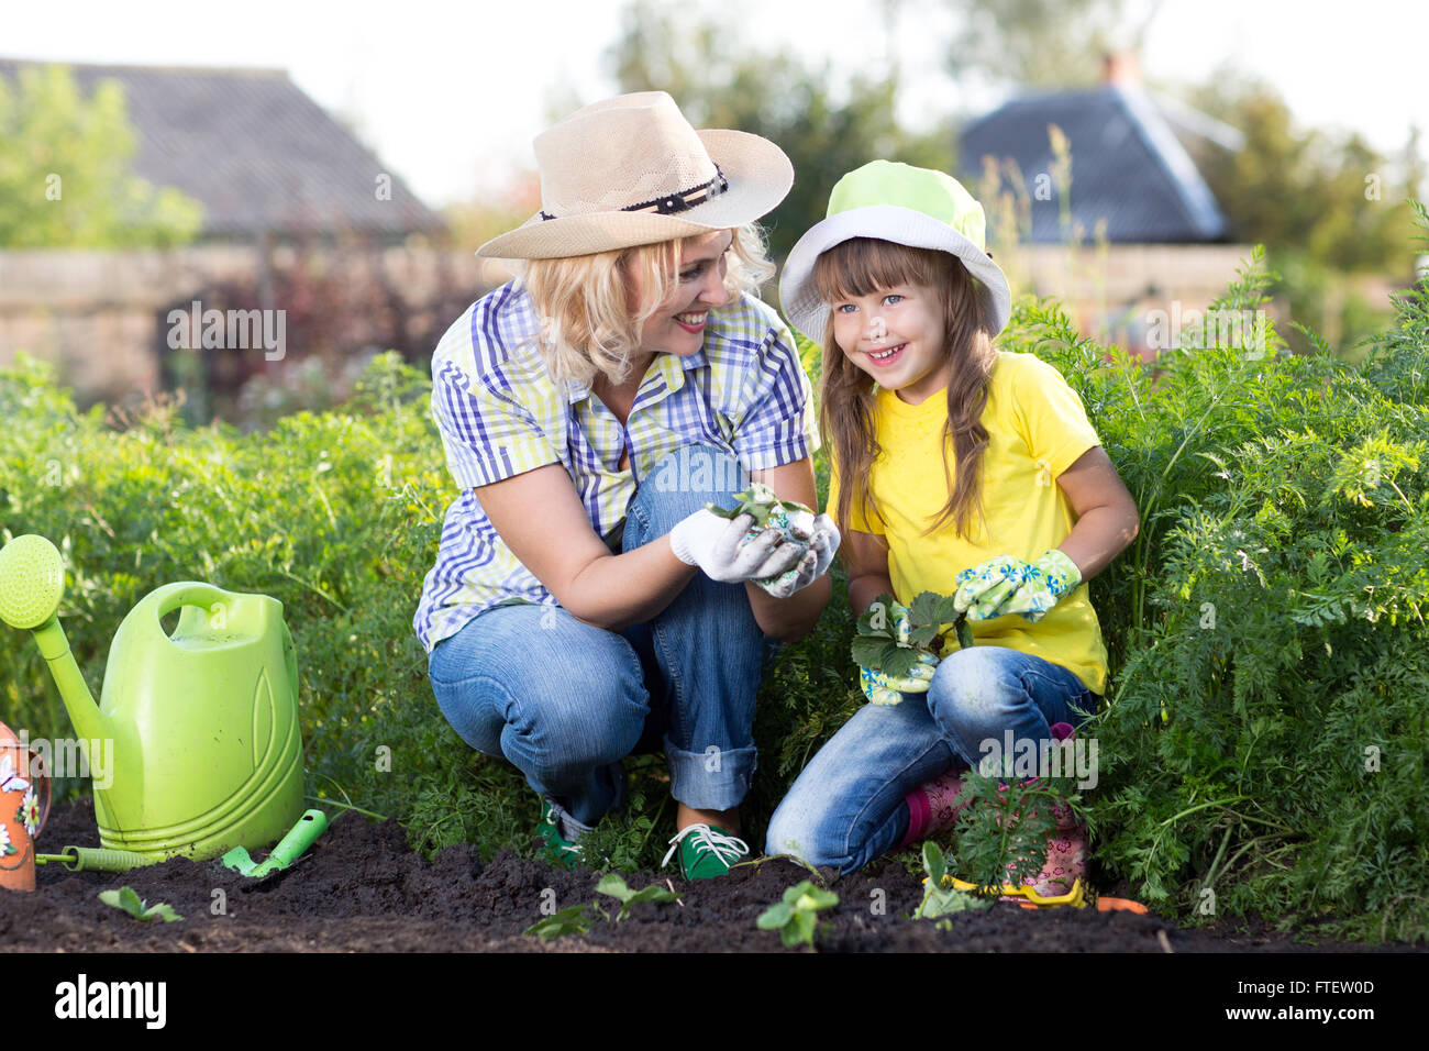
[(809, 67), (787, 50), (756, 50), (736, 30), (693, 20), (687, 10), (637, 0), (624, 10), (610, 64), (623, 92), (669, 92), (696, 127), (733, 127), (777, 143), (795, 166), (795, 186), (765, 219), (770, 253), (787, 255), (825, 217), (829, 192), (846, 173), (885, 157), (950, 170), (953, 133), (897, 126), (896, 76), (855, 79), (836, 102), (827, 63)]

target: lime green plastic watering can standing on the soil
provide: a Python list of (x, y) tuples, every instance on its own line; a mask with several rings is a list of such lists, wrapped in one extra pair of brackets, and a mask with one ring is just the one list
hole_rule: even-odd
[[(103, 845), (203, 861), (293, 828), (303, 741), (283, 603), (207, 583), (159, 588), (119, 626), (96, 706), (59, 623), (63, 591), (64, 559), (43, 536), (0, 551), (0, 619), (33, 631), (54, 673), (90, 764)], [(169, 633), (161, 618), (176, 609)], [(107, 762), (94, 751), (106, 746)]]

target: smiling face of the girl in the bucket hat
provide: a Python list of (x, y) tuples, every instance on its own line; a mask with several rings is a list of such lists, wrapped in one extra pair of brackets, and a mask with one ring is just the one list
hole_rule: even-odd
[(917, 405), (947, 386), (947, 333), (933, 287), (892, 285), (865, 296), (840, 296), (830, 307), (833, 342), (880, 388)]

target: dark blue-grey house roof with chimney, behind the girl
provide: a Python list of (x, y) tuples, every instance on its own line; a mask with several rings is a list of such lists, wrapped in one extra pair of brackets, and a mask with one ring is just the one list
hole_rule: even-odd
[[(962, 134), (960, 177), (982, 179), (983, 157), (1013, 157), (1027, 192), (1055, 157), (1047, 124), (1072, 149), (1072, 219), (1090, 237), (1106, 219), (1113, 243), (1215, 242), (1229, 236), (1225, 216), (1165, 114), (1137, 84), (1113, 83), (1087, 92), (1055, 92), (1009, 102)], [(1005, 183), (1006, 184), (1006, 183)], [(1052, 200), (1032, 200), (1032, 240), (1060, 242), (1057, 187)]]

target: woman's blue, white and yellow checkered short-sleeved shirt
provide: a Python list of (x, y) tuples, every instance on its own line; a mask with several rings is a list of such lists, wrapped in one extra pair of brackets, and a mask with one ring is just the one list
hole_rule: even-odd
[[(670, 452), (712, 445), (736, 456), (745, 470), (760, 470), (819, 448), (795, 342), (757, 299), (742, 296), (710, 310), (699, 353), (657, 353), (624, 426), (589, 386), (550, 378), (537, 333), (530, 297), (512, 282), (473, 303), (432, 357), (432, 410), (462, 493), (447, 509), (413, 619), (429, 653), (492, 606), (557, 605), (492, 528), (480, 486), (560, 463), (590, 528), (617, 549), (630, 498)], [(620, 470), (626, 449), (630, 469)]]

